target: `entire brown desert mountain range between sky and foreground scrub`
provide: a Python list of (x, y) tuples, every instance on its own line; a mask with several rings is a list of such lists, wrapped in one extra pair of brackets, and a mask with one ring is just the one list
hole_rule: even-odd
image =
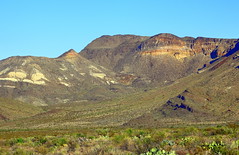
[(239, 121), (239, 39), (102, 36), (0, 61), (0, 128)]

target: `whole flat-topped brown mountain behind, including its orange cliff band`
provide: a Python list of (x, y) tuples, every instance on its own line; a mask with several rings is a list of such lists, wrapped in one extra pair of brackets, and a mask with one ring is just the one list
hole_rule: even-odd
[[(134, 36), (133, 44), (128, 44), (127, 35), (120, 36), (121, 40), (117, 44), (108, 41), (118, 41), (118, 37), (102, 36), (90, 43), (80, 54), (115, 72), (137, 77), (133, 84), (143, 87), (155, 82), (171, 83), (195, 73), (209, 61), (225, 55), (237, 43), (237, 39), (179, 38), (167, 33), (152, 37)], [(102, 46), (107, 44), (97, 47), (96, 43), (101, 43)], [(128, 48), (121, 48), (126, 45)], [(117, 56), (119, 54), (121, 56)]]

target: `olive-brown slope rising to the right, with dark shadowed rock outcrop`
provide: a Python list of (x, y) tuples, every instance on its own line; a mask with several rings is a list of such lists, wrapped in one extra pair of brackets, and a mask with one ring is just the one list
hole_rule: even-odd
[(103, 102), (72, 102), (2, 128), (168, 127), (239, 121), (239, 51), (171, 85)]

